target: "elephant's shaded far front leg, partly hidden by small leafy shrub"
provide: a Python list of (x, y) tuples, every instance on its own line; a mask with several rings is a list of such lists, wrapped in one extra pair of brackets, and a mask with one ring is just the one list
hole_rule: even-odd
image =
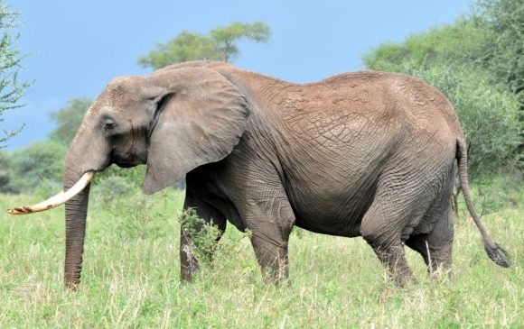
[[(187, 211), (193, 208), (196, 210), (197, 215), (203, 220), (205, 224), (213, 224), (219, 228), (219, 236), (217, 236), (216, 242), (219, 242), (222, 233), (226, 230), (226, 218), (218, 210), (211, 205), (202, 201), (197, 196), (193, 196), (191, 192), (187, 192), (183, 209)], [(199, 260), (195, 255), (194, 248), (198, 248), (192, 243), (195, 235), (201, 233), (203, 224), (191, 224), (188, 227), (186, 224), (181, 224), (180, 228), (180, 279), (182, 282), (191, 281), (194, 273), (199, 269)], [(206, 258), (211, 259), (212, 250), (197, 251), (196, 253), (203, 255), (208, 253)]]

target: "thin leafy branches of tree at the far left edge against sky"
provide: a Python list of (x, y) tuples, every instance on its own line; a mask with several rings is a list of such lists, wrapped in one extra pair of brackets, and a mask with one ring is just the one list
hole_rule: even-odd
[[(19, 34), (13, 31), (18, 26), (18, 16), (19, 14), (11, 12), (9, 7), (0, 1), (0, 123), (4, 121), (4, 111), (23, 106), (20, 104), (20, 98), (23, 90), (29, 85), (18, 80), (22, 56), (20, 51), (14, 48)], [(0, 137), (0, 148), (21, 129), (22, 127), (14, 131), (4, 131), (4, 136)]]

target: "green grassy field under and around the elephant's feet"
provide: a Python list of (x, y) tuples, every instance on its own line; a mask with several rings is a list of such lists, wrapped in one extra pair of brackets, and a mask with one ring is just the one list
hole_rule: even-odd
[[(462, 211), (451, 283), (427, 279), (407, 251), (419, 283), (395, 288), (362, 239), (295, 230), (291, 283), (276, 288), (262, 284), (248, 237), (231, 225), (213, 265), (180, 286), (182, 192), (115, 199), (95, 187), (77, 292), (62, 287), (63, 207), (0, 215), (0, 327), (523, 327), (524, 191), (495, 189), (482, 220), (510, 251), (510, 270), (491, 263)], [(0, 208), (38, 198), (0, 196)]]

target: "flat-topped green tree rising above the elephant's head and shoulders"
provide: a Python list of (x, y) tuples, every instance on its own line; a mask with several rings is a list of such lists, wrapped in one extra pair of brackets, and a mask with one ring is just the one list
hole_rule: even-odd
[(181, 32), (173, 40), (160, 43), (148, 55), (138, 59), (144, 68), (161, 69), (187, 60), (221, 60), (231, 62), (239, 56), (238, 41), (267, 42), (271, 32), (262, 22), (231, 23), (208, 34)]

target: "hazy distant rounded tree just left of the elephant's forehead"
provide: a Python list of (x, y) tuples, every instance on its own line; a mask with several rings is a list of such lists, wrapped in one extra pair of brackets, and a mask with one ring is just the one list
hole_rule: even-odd
[(50, 140), (69, 146), (92, 103), (93, 101), (87, 97), (72, 98), (65, 107), (51, 112), (51, 120), (57, 127), (49, 134)]

